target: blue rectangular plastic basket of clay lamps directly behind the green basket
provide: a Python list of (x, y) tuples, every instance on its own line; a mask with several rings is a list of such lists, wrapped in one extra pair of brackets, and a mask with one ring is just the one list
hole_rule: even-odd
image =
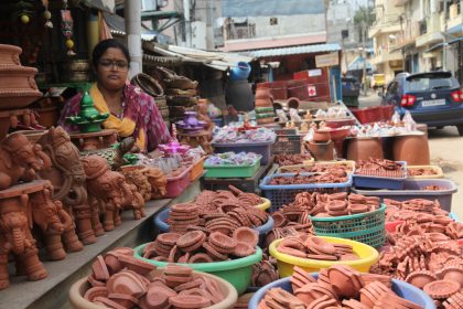
[[(311, 175), (314, 173), (300, 173), (301, 175)], [(352, 187), (352, 175), (347, 175), (347, 182), (342, 183), (312, 183), (312, 184), (288, 184), (271, 185), (268, 184), (276, 177), (293, 177), (294, 173), (276, 173), (263, 178), (260, 182), (260, 190), (266, 199), (270, 200), (270, 212), (278, 211), (282, 205), (294, 202), (295, 195), (301, 192), (321, 192), (336, 193), (348, 192)]]

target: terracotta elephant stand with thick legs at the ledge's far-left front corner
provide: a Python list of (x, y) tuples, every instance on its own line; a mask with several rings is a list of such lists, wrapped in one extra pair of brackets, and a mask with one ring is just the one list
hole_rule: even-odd
[(41, 280), (49, 274), (39, 259), (39, 251), (30, 230), (26, 214), (29, 195), (18, 195), (0, 200), (0, 289), (10, 286), (8, 256), (17, 259), (17, 273), (24, 274), (29, 280)]

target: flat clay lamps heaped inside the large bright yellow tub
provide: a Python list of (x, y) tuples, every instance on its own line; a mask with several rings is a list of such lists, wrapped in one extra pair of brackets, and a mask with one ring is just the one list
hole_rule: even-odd
[(351, 245), (332, 244), (323, 238), (304, 236), (287, 237), (278, 245), (277, 251), (294, 257), (320, 260), (355, 260), (359, 257), (354, 254)]

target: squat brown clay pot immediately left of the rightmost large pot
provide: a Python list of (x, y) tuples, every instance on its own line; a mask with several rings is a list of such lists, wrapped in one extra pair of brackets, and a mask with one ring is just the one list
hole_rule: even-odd
[(347, 146), (347, 160), (384, 159), (383, 143), (379, 138), (353, 138)]

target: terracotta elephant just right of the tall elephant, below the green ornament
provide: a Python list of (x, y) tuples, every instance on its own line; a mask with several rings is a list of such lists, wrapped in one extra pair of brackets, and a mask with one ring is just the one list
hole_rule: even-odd
[(98, 209), (104, 212), (103, 226), (111, 231), (120, 225), (120, 211), (125, 205), (132, 203), (134, 196), (126, 178), (111, 171), (107, 161), (99, 156), (89, 156), (82, 159), (87, 177), (88, 203), (91, 207), (91, 217), (98, 224)]

